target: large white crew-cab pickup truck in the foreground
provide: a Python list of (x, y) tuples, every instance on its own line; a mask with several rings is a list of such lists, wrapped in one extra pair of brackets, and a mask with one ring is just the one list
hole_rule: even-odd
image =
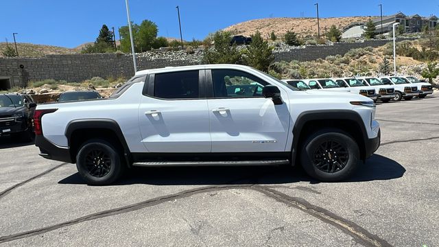
[(283, 165), (344, 180), (379, 147), (371, 99), (298, 91), (251, 67), (138, 71), (108, 99), (40, 104), (40, 156), (76, 163), (90, 185), (133, 166)]

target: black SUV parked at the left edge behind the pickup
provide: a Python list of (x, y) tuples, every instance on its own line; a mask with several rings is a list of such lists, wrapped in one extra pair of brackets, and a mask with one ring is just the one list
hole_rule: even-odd
[(35, 108), (36, 103), (29, 95), (0, 94), (0, 137), (17, 134), (24, 141), (32, 141)]

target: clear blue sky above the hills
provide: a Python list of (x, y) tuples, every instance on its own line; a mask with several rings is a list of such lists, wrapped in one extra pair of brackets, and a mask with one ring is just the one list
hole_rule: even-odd
[[(131, 21), (148, 19), (158, 25), (158, 36), (180, 37), (176, 6), (179, 5), (184, 40), (203, 39), (224, 27), (268, 17), (379, 16), (403, 12), (439, 16), (436, 0), (129, 0)], [(117, 28), (127, 25), (125, 0), (0, 0), (0, 41), (77, 47), (93, 42), (103, 24)]]

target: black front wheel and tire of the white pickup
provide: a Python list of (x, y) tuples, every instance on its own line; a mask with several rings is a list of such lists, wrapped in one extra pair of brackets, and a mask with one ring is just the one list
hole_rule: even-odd
[[(325, 145), (327, 148), (322, 148)], [(327, 162), (327, 158), (334, 162)], [(305, 172), (323, 182), (345, 180), (357, 169), (358, 160), (357, 143), (347, 133), (337, 129), (311, 134), (300, 152), (300, 163)]]

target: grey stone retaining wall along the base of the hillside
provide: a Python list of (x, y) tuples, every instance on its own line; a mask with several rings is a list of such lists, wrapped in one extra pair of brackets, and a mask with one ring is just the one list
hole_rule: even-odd
[[(366, 40), (364, 43), (335, 43), (327, 46), (307, 46), (275, 53), (276, 61), (310, 61), (330, 55), (344, 55), (353, 48), (378, 47), (389, 40)], [(199, 63), (194, 59), (180, 58), (137, 58), (138, 69), (154, 69), (167, 66), (183, 66)], [(29, 81), (55, 79), (67, 82), (81, 82), (99, 76), (102, 78), (123, 76), (130, 78), (134, 73), (132, 56), (129, 54), (72, 54), (47, 55), (44, 58), (0, 58), (0, 82), (9, 81), (10, 87), (26, 86)], [(0, 89), (4, 87), (0, 85)]]

